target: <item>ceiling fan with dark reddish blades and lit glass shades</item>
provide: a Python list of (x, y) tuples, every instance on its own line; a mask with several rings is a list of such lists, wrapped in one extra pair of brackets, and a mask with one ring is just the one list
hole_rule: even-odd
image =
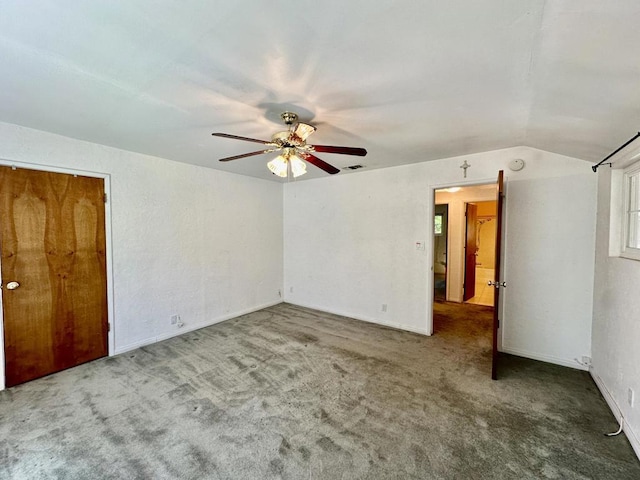
[(331, 175), (340, 171), (333, 165), (330, 165), (324, 160), (316, 157), (314, 155), (315, 152), (339, 153), (342, 155), (357, 155), (360, 157), (364, 157), (367, 154), (367, 151), (364, 148), (307, 144), (307, 138), (316, 131), (316, 127), (307, 123), (298, 122), (298, 115), (293, 112), (284, 112), (280, 117), (289, 129), (284, 132), (277, 132), (273, 134), (270, 142), (255, 138), (240, 137), (238, 135), (230, 135), (228, 133), (212, 133), (211, 135), (215, 137), (233, 138), (236, 140), (244, 140), (246, 142), (261, 143), (266, 146), (264, 150), (221, 158), (220, 161), (229, 162), (231, 160), (252, 157), (254, 155), (262, 155), (264, 153), (281, 152), (278, 157), (267, 163), (267, 167), (274, 175), (286, 178), (289, 175), (289, 169), (291, 169), (291, 173), (294, 177), (299, 177), (307, 172), (307, 165), (303, 160), (315, 165)]

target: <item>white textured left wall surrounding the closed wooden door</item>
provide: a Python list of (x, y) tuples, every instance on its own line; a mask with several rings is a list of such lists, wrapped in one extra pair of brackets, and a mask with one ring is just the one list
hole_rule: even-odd
[(109, 175), (112, 351), (282, 301), (278, 183), (2, 123), (0, 159)]

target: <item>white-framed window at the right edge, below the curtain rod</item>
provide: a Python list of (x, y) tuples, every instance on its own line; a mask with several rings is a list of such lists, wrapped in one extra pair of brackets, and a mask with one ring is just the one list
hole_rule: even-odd
[(624, 218), (622, 256), (640, 260), (640, 162), (623, 174)]

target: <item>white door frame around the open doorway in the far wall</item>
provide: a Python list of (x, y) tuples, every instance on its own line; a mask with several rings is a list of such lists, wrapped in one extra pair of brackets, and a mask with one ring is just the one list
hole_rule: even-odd
[[(497, 170), (496, 170), (496, 174), (497, 174)], [(474, 186), (478, 186), (478, 185), (496, 185), (496, 178), (493, 177), (489, 177), (489, 178), (481, 178), (481, 179), (475, 179), (475, 180), (470, 180), (470, 181), (452, 181), (452, 182), (447, 182), (447, 183), (438, 183), (438, 184), (431, 184), (429, 185), (429, 198), (428, 198), (428, 203), (427, 203), (427, 216), (428, 216), (428, 221), (427, 221), (427, 238), (433, 239), (433, 217), (435, 215), (435, 206), (436, 206), (436, 190), (442, 190), (445, 188), (452, 188), (452, 187), (474, 187)], [(504, 182), (504, 188), (506, 190), (507, 188), (507, 182), (506, 182), (506, 176), (505, 176), (505, 182)], [(473, 200), (473, 199), (469, 199), (469, 200), (465, 200), (466, 202), (474, 202), (474, 201), (485, 201), (485, 199), (483, 200)], [(508, 208), (508, 205), (505, 204), (505, 208), (502, 212), (503, 217), (506, 216), (506, 210)], [(505, 271), (505, 257), (504, 257), (504, 250), (506, 249), (506, 235), (505, 235), (505, 230), (503, 228), (502, 231), (502, 255), (500, 258), (500, 262), (502, 263), (502, 271)], [(450, 240), (447, 241), (447, 243)], [(427, 335), (433, 335), (433, 302), (434, 302), (434, 292), (433, 292), (433, 288), (434, 288), (434, 282), (433, 282), (433, 240), (431, 240), (431, 247), (432, 248), (427, 248), (427, 312), (426, 312), (426, 325), (425, 325), (425, 331), (427, 332)], [(449, 252), (450, 249), (447, 246), (447, 264), (449, 262)], [(493, 308), (497, 308), (498, 309), (498, 313), (500, 314), (500, 318), (501, 318), (501, 322), (500, 322), (500, 328), (499, 328), (499, 333), (498, 333), (498, 350), (500, 350), (500, 348), (502, 348), (502, 332), (504, 332), (504, 327), (506, 325), (506, 319), (504, 318), (504, 302), (505, 302), (505, 297), (506, 297), (506, 289), (503, 290), (502, 292), (500, 292), (500, 298), (499, 298), (499, 305), (494, 305)], [(447, 284), (447, 298), (449, 296), (449, 285)]]

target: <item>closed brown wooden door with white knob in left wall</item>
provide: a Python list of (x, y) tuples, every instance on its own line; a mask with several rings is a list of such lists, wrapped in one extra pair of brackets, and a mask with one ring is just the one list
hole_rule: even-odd
[(107, 354), (102, 179), (0, 167), (5, 371), (16, 385)]

